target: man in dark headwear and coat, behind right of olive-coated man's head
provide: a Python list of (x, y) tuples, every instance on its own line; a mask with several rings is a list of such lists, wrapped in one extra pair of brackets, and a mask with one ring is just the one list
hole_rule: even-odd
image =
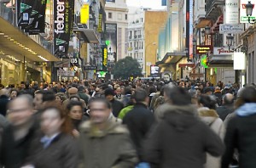
[(119, 102), (118, 100), (113, 98), (114, 92), (113, 89), (108, 88), (105, 90), (105, 97), (108, 99), (110, 102), (112, 109), (113, 109), (113, 116), (118, 117), (119, 112), (124, 108), (124, 104)]

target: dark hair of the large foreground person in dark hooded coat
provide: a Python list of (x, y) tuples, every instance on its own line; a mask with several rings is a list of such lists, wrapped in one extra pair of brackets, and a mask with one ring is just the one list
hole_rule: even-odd
[(183, 87), (165, 87), (165, 92), (174, 105), (191, 104), (189, 92)]

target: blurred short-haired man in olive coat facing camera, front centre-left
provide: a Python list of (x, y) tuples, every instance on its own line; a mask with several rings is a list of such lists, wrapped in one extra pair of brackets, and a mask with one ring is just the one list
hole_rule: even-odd
[(125, 167), (137, 163), (136, 150), (125, 126), (110, 120), (111, 104), (105, 98), (89, 102), (90, 120), (80, 126), (79, 167)]

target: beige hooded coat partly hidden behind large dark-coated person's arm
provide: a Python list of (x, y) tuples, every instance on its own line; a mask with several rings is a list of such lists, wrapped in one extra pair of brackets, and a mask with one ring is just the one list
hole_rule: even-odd
[[(200, 108), (198, 109), (198, 115), (200, 116), (201, 120), (210, 126), (212, 131), (224, 141), (225, 126), (224, 122), (218, 117), (217, 112), (214, 109)], [(212, 155), (207, 154), (207, 163), (205, 168), (220, 167), (221, 157), (213, 157)]]

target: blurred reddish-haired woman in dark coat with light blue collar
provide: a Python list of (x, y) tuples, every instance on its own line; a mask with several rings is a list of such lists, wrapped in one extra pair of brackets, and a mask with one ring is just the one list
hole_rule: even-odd
[(67, 112), (49, 104), (41, 116), (41, 130), (32, 142), (27, 165), (36, 168), (77, 167), (78, 148)]

